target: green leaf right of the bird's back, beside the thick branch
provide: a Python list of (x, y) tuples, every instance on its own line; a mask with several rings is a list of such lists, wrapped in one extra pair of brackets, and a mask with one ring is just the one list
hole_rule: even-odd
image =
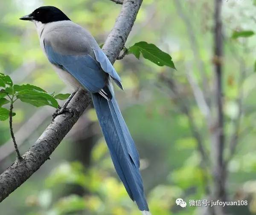
[(163, 52), (157, 48), (157, 46), (154, 44), (141, 41), (131, 46), (127, 53), (134, 54), (138, 59), (140, 59), (140, 54), (142, 54), (145, 59), (150, 60), (158, 66), (169, 66), (175, 69), (172, 57), (166, 52)]

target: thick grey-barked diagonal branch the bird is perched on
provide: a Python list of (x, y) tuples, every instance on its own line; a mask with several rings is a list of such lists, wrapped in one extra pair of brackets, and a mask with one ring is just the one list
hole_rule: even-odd
[[(124, 0), (115, 26), (109, 34), (103, 51), (113, 63), (125, 45), (128, 34), (136, 19), (143, 0)], [(61, 140), (67, 135), (81, 114), (91, 103), (90, 94), (80, 90), (69, 105), (74, 115), (64, 113), (53, 120), (40, 138), (23, 156), (22, 161), (15, 161), (0, 175), (0, 202), (24, 183), (52, 154)]]

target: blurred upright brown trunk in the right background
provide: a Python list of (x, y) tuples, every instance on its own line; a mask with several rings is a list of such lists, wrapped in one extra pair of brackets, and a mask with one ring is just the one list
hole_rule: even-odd
[[(214, 14), (214, 67), (215, 67), (215, 102), (217, 106), (217, 122), (212, 131), (212, 158), (213, 158), (213, 198), (220, 201), (226, 199), (226, 168), (224, 162), (224, 114), (223, 114), (223, 89), (222, 89), (222, 57), (223, 37), (221, 21), (222, 0), (215, 0)], [(223, 207), (216, 207), (215, 214), (223, 215)]]

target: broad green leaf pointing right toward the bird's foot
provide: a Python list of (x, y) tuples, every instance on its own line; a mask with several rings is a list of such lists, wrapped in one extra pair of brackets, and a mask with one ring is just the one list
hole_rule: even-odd
[(17, 98), (22, 102), (32, 104), (36, 107), (49, 105), (54, 108), (58, 108), (58, 102), (55, 98), (45, 92), (24, 89), (17, 93)]

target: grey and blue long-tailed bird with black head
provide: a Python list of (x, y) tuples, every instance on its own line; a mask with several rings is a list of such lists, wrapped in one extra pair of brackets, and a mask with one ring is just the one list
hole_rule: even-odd
[(54, 6), (41, 6), (20, 20), (35, 23), (40, 46), (60, 78), (74, 89), (57, 115), (80, 89), (90, 92), (102, 133), (116, 172), (128, 195), (143, 215), (151, 215), (140, 174), (140, 158), (116, 101), (113, 84), (123, 89), (121, 79), (85, 28)]

